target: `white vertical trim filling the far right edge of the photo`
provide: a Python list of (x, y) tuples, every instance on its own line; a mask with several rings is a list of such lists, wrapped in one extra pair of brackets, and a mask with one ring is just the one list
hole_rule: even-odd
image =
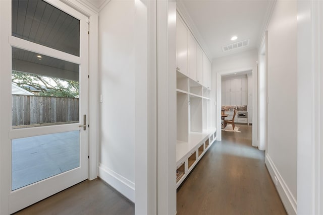
[(323, 214), (322, 14), (322, 1), (297, 1), (297, 214), (299, 215)]

